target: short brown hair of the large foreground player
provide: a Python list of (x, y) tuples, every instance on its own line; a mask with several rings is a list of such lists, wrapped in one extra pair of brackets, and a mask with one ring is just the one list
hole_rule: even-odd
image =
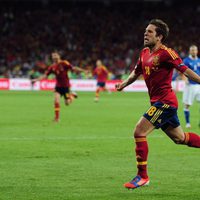
[(161, 19), (152, 19), (149, 24), (153, 24), (156, 26), (156, 34), (162, 35), (163, 38), (161, 42), (164, 42), (167, 39), (167, 36), (169, 35), (169, 27), (168, 25), (162, 21)]

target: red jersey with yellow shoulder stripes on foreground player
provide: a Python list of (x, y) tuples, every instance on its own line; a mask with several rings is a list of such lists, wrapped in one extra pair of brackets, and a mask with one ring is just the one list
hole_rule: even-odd
[(178, 101), (171, 86), (174, 68), (182, 73), (187, 69), (174, 50), (162, 45), (152, 53), (149, 48), (141, 51), (135, 73), (144, 76), (151, 103), (162, 102), (178, 107)]

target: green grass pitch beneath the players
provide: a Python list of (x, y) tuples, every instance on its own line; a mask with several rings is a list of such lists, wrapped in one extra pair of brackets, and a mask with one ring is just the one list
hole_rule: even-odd
[[(184, 127), (181, 93), (179, 118)], [(61, 121), (52, 92), (0, 91), (0, 200), (198, 200), (200, 149), (175, 145), (160, 130), (149, 141), (150, 186), (136, 174), (132, 130), (149, 107), (146, 93), (79, 93)], [(191, 109), (192, 131), (199, 107)]]

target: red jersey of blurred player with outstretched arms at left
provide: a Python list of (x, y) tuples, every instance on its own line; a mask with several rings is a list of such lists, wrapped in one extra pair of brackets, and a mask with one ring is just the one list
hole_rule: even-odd
[(72, 70), (72, 65), (66, 60), (61, 60), (59, 63), (49, 66), (45, 74), (47, 76), (51, 73), (55, 74), (56, 87), (69, 87), (69, 70)]

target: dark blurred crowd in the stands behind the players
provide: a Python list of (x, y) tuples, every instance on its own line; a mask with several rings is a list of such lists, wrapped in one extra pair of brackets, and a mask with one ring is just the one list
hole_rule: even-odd
[(200, 47), (199, 15), (198, 4), (172, 1), (4, 7), (0, 9), (0, 77), (39, 76), (51, 64), (51, 52), (59, 50), (73, 65), (91, 70), (101, 59), (111, 79), (123, 78), (137, 61), (150, 19), (169, 24), (167, 45), (185, 57), (191, 44)]

